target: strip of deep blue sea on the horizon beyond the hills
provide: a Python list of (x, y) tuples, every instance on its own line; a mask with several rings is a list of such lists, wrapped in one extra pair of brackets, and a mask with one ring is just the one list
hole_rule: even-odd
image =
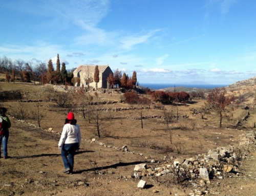
[(177, 87), (186, 87), (186, 88), (198, 88), (198, 89), (214, 89), (214, 88), (222, 88), (226, 87), (229, 84), (156, 84), (156, 83), (140, 83), (140, 86), (144, 86), (145, 88), (159, 90), (166, 88), (177, 88)]

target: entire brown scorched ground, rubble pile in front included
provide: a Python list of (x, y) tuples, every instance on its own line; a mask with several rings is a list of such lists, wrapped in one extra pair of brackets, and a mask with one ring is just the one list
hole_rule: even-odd
[[(21, 95), (25, 102), (3, 102), (9, 108), (12, 127), (8, 145), (11, 158), (0, 159), (0, 195), (255, 195), (254, 109), (244, 121), (248, 110), (232, 111), (218, 128), (219, 118), (214, 112), (201, 118), (203, 100), (179, 108), (165, 105), (174, 114), (178, 109), (180, 114), (179, 121), (170, 124), (172, 132), (166, 132), (161, 107), (135, 110), (136, 105), (119, 102), (120, 92), (98, 97), (92, 92), (94, 101), (114, 100), (101, 107), (108, 107), (104, 110), (108, 132), (98, 138), (91, 131), (95, 129), (92, 123), (83, 119), (78, 103), (73, 103), (73, 108), (59, 108), (45, 101), (45, 86), (10, 84), (2, 88), (24, 88)], [(38, 128), (34, 119), (12, 117), (35, 108), (43, 112), (43, 128)], [(74, 111), (82, 131), (73, 175), (62, 173), (57, 148), (69, 110)], [(137, 118), (140, 112), (145, 117), (143, 129)], [(237, 119), (241, 119), (241, 126), (235, 126)]]

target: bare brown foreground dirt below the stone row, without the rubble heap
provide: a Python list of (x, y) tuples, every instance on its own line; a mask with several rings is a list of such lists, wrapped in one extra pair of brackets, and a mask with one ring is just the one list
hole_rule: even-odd
[[(139, 179), (129, 176), (133, 175), (135, 164), (143, 160), (85, 141), (80, 154), (75, 157), (74, 175), (66, 175), (62, 173), (62, 160), (57, 149), (59, 136), (11, 120), (8, 146), (11, 159), (0, 159), (0, 175), (4, 177), (0, 178), (0, 195), (181, 196), (198, 189), (189, 181), (180, 185), (168, 184), (167, 176), (145, 177), (143, 180), (147, 186), (139, 189)], [(99, 163), (93, 162), (96, 157)], [(255, 161), (256, 153), (253, 151), (240, 167), (243, 175), (211, 180), (206, 188), (208, 195), (256, 195)], [(94, 169), (98, 169), (97, 174)]]

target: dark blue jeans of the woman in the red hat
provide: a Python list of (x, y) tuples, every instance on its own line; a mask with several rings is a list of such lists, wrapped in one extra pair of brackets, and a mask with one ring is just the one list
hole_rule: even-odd
[(78, 143), (63, 144), (61, 149), (61, 157), (64, 163), (65, 169), (70, 168), (73, 171), (74, 168), (74, 156)]

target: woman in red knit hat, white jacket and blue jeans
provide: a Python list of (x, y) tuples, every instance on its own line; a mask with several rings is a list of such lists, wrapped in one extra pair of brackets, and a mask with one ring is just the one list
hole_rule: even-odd
[(73, 173), (75, 151), (81, 143), (81, 131), (76, 122), (74, 113), (70, 112), (59, 139), (58, 148), (61, 149), (61, 157), (65, 167), (63, 173)]

